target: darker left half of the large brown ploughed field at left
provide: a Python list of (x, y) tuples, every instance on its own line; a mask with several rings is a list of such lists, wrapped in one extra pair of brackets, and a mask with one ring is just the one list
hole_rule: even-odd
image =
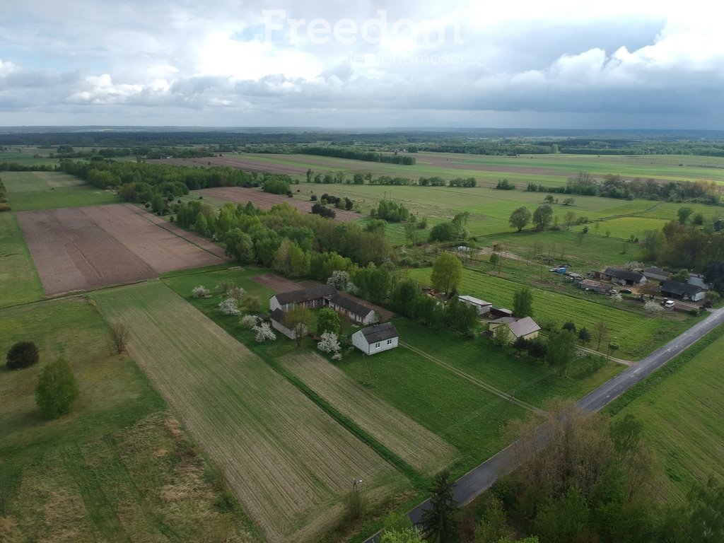
[(17, 214), (46, 295), (156, 277), (80, 208)]

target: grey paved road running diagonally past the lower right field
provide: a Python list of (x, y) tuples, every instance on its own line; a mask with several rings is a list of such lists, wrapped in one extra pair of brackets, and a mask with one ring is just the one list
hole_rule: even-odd
[[(686, 348), (691, 347), (697, 340), (704, 337), (704, 335), (711, 332), (712, 329), (723, 322), (724, 308), (711, 311), (706, 319), (694, 324), (694, 326), (686, 330), (686, 332), (678, 335), (666, 345), (654, 350), (654, 352), (647, 357), (641, 358), (639, 362), (622, 371), (613, 377), (613, 379), (605, 382), (596, 390), (581, 398), (581, 400), (578, 400), (578, 405), (584, 411), (599, 411), (599, 409), (613, 402), (613, 400), (633, 387), (633, 385), (641, 381), (641, 379), (652, 374), (683, 350), (686, 350)], [(515, 468), (513, 445), (505, 447), (505, 449), (484, 463), (481, 463), (480, 466), (468, 471), (468, 473), (455, 482), (453, 495), (455, 500), (458, 501), (458, 504), (465, 505), (484, 492), (484, 490), (488, 489), (498, 476), (513, 471)], [(429, 500), (422, 502), (408, 513), (413, 524), (417, 525), (420, 523), (422, 512), (427, 508), (429, 508)], [(367, 539), (365, 543), (376, 542), (377, 539), (379, 539), (379, 532)]]

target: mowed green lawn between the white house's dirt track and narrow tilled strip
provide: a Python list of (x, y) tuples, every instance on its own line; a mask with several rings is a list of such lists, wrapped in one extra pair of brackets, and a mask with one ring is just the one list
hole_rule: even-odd
[[(402, 338), (405, 339), (404, 337)], [(460, 476), (507, 445), (502, 427), (526, 411), (404, 347), (345, 355), (339, 368), (460, 451)]]

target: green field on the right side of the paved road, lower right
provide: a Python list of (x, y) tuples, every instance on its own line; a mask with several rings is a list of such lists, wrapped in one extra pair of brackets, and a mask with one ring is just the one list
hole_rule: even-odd
[(694, 482), (724, 479), (724, 329), (700, 341), (611, 405), (616, 418), (631, 413), (644, 423), (658, 471), (667, 475), (660, 494), (677, 500)]

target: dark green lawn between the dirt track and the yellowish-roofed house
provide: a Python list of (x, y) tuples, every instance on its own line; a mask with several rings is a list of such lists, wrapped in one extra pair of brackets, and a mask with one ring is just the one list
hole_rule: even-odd
[[(465, 371), (498, 390), (545, 408), (555, 397), (578, 399), (623, 371), (610, 363), (582, 378), (560, 376), (541, 363), (518, 357), (513, 348), (499, 349), (487, 337), (468, 338), (445, 330), (432, 330), (402, 317), (395, 319), (400, 340)], [(573, 368), (571, 368), (573, 371)]]

